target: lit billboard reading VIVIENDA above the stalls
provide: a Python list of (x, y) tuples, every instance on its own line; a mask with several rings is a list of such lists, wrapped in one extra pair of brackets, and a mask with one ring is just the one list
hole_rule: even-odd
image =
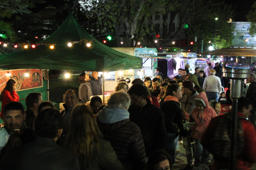
[(232, 22), (234, 27), (232, 46), (256, 46), (256, 37), (249, 34), (251, 22)]

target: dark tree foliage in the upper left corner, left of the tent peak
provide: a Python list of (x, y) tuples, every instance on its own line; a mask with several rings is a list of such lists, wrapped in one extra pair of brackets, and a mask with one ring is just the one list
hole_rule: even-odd
[[(20, 41), (24, 36), (29, 36), (28, 32), (35, 33), (39, 22), (35, 14), (30, 9), (36, 4), (44, 3), (43, 0), (1, 0), (0, 5), (0, 32), (5, 34), (4, 39), (8, 43)], [(36, 25), (37, 23), (37, 25)], [(43, 28), (43, 26), (41, 26)], [(24, 32), (24, 31), (27, 32)], [(23, 34), (23, 37), (21, 36)], [(0, 48), (0, 53), (12, 52), (13, 48)]]

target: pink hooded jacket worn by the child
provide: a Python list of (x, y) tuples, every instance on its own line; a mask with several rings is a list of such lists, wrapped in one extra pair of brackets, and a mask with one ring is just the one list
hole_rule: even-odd
[(185, 113), (182, 113), (182, 116), (185, 120), (189, 122), (195, 122), (192, 128), (191, 137), (195, 139), (201, 139), (204, 134), (204, 131), (209, 126), (212, 118), (216, 117), (217, 114), (215, 110), (212, 107), (210, 107), (205, 92), (201, 92), (198, 96), (196, 96), (195, 100), (201, 101), (205, 106), (204, 109), (199, 110), (196, 107), (193, 109), (191, 115), (185, 112)]

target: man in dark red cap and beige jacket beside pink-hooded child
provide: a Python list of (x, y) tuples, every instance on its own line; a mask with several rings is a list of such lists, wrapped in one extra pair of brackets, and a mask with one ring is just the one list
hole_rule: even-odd
[[(196, 91), (195, 84), (192, 81), (184, 81), (182, 83), (182, 93), (183, 97), (180, 99), (181, 108), (183, 108), (189, 115), (191, 115), (192, 110), (196, 107), (195, 98), (199, 93)], [(192, 129), (193, 123), (189, 123), (189, 128)], [(186, 150), (188, 165), (184, 170), (193, 169), (193, 149), (190, 143), (190, 136), (183, 136), (183, 147)]]

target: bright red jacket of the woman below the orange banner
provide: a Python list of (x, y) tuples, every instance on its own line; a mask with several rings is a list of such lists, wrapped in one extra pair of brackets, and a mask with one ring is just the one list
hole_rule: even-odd
[(17, 102), (19, 102), (19, 98), (20, 98), (20, 96), (18, 96), (18, 94), (17, 94), (16, 91), (13, 91), (13, 92), (12, 92), (12, 95), (11, 95), (11, 93), (10, 93), (8, 90), (5, 90), (3, 93), (4, 93), (4, 94), (3, 94), (2, 105), (1, 105), (1, 118), (2, 118), (2, 119), (3, 119), (3, 117), (4, 117), (4, 107), (5, 107), (8, 103), (10, 103), (10, 102), (12, 102), (12, 101), (17, 101)]

